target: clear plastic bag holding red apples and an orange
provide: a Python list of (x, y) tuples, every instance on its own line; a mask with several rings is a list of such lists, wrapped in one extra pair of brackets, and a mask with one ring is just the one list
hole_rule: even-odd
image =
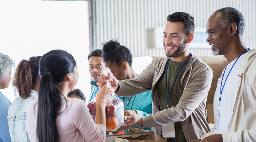
[[(108, 73), (111, 73), (110, 69), (106, 67), (104, 70), (104, 74), (107, 76)], [(111, 74), (112, 75), (112, 74)], [(107, 85), (110, 85), (108, 82)], [(96, 97), (92, 99), (87, 107), (89, 108), (89, 112), (95, 121), (96, 116)], [(108, 131), (115, 131), (123, 125), (123, 117), (124, 117), (124, 107), (123, 100), (120, 98), (113, 96), (110, 100), (107, 100), (106, 104), (106, 128)]]

